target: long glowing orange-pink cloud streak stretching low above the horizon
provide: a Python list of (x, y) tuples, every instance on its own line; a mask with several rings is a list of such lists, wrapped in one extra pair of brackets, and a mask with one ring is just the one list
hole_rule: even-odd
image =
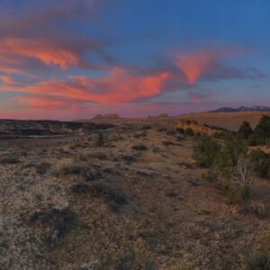
[[(160, 94), (169, 78), (170, 74), (166, 72), (149, 76), (132, 76), (127, 70), (114, 67), (102, 78), (72, 76), (67, 81), (49, 80), (37, 85), (17, 87), (14, 91), (96, 103), (127, 103)], [(25, 98), (25, 101), (32, 100)]]

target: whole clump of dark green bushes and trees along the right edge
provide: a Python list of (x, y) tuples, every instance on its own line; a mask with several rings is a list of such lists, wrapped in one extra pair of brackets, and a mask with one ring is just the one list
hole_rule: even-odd
[(270, 155), (262, 150), (248, 150), (251, 136), (257, 143), (266, 143), (269, 127), (270, 121), (264, 116), (254, 131), (244, 121), (237, 133), (229, 132), (220, 138), (205, 135), (194, 140), (193, 157), (197, 165), (209, 169), (202, 177), (216, 184), (229, 203), (247, 201), (253, 173), (270, 178)]

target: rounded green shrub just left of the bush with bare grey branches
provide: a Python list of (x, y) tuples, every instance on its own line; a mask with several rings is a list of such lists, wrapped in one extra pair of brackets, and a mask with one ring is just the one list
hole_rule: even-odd
[(202, 167), (211, 167), (220, 151), (220, 145), (209, 136), (199, 137), (193, 144), (193, 158)]

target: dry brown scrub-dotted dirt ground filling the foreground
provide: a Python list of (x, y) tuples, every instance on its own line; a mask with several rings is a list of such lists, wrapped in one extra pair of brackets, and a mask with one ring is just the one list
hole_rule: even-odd
[(0, 141), (0, 269), (244, 269), (270, 248), (270, 182), (231, 206), (202, 181), (193, 139), (121, 129)]

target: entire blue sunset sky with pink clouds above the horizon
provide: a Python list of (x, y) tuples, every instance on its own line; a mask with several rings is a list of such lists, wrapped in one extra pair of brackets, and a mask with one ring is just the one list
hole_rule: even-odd
[(270, 106), (268, 0), (1, 0), (0, 118)]

